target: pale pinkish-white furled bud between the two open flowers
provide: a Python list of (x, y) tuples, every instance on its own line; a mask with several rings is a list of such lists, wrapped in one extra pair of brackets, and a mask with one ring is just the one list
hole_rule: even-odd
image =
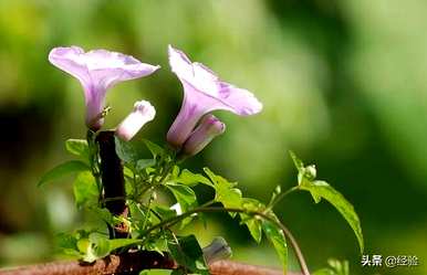
[(156, 109), (149, 102), (140, 101), (134, 105), (134, 110), (117, 126), (116, 136), (129, 141), (136, 133), (156, 116)]

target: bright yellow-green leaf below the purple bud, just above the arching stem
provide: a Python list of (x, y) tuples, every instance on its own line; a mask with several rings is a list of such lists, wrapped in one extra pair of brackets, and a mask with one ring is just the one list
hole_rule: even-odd
[[(225, 178), (215, 174), (209, 168), (204, 168), (206, 174), (214, 182), (215, 201), (222, 203), (226, 208), (240, 208), (242, 203), (241, 191), (236, 188), (237, 182), (229, 182)], [(229, 213), (236, 216), (236, 213)]]

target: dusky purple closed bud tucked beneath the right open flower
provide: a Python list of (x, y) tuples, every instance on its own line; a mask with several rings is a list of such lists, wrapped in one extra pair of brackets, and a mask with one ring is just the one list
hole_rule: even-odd
[(225, 130), (226, 125), (217, 117), (210, 114), (206, 115), (184, 144), (183, 154), (185, 156), (195, 156)]

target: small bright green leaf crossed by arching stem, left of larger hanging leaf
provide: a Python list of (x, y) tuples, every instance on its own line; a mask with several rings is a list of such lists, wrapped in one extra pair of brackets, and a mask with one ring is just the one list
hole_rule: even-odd
[[(243, 209), (250, 211), (263, 211), (265, 207), (256, 199), (243, 198), (242, 205)], [(258, 216), (248, 215), (240, 213), (242, 222), (248, 226), (248, 230), (257, 243), (261, 242), (262, 239), (262, 220)]]

